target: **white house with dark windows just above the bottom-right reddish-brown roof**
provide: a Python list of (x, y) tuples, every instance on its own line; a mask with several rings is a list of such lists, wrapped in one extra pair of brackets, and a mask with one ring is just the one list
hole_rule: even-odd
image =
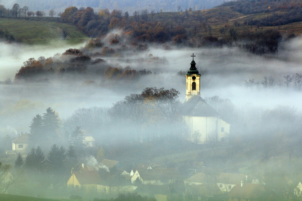
[(218, 187), (223, 192), (230, 192), (230, 190), (236, 186), (238, 183), (241, 183), (241, 181), (246, 180), (245, 174), (234, 174), (234, 173), (221, 173), (216, 182)]

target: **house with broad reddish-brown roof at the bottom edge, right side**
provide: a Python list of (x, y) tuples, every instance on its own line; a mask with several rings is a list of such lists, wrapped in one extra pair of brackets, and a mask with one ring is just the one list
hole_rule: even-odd
[(261, 184), (243, 183), (240, 182), (230, 190), (228, 197), (229, 201), (256, 201), (262, 200), (261, 197), (265, 191), (265, 188)]

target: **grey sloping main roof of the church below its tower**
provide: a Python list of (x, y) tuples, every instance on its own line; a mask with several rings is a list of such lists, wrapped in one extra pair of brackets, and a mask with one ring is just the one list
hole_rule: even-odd
[(199, 95), (192, 96), (182, 104), (182, 114), (185, 116), (218, 116), (218, 113)]

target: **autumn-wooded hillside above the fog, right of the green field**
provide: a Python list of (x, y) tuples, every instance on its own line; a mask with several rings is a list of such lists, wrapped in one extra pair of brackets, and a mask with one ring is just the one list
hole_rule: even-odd
[[(302, 33), (302, 1), (241, 0), (199, 11), (156, 13), (145, 9), (135, 11), (133, 16), (121, 10), (110, 13), (108, 9), (95, 12), (90, 7), (69, 7), (56, 20), (62, 22), (57, 27), (74, 24), (89, 37), (101, 38), (117, 29), (137, 43), (169, 42), (191, 47), (236, 45), (265, 54), (276, 53), (282, 37), (286, 39)], [(10, 39), (14, 34), (5, 26), (0, 34)], [(73, 31), (69, 31), (69, 35), (72, 34)]]

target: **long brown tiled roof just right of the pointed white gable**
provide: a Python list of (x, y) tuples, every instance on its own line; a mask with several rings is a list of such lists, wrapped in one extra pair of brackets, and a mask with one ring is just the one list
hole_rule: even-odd
[(139, 170), (140, 177), (145, 180), (163, 180), (176, 179), (181, 175), (177, 168), (155, 168), (147, 170)]

